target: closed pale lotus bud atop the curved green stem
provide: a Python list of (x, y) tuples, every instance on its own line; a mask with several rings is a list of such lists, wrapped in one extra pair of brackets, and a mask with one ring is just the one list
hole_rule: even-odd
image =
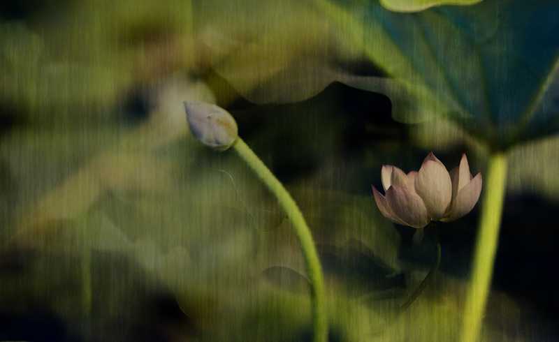
[(205, 102), (184, 102), (190, 131), (205, 145), (225, 151), (238, 137), (233, 116), (222, 107)]

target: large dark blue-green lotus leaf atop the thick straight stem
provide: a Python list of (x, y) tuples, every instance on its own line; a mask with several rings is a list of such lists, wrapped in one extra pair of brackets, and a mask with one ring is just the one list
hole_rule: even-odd
[[(556, 1), (483, 1), (412, 14), (375, 1), (318, 3), (372, 61), (409, 82), (402, 87), (420, 102), (432, 103), (434, 114), (493, 147), (559, 129)], [(412, 112), (395, 119), (424, 118)]]

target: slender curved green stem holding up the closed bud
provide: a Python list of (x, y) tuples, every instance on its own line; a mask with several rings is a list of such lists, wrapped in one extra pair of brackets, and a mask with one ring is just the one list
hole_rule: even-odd
[(266, 165), (262, 163), (260, 158), (254, 154), (252, 149), (250, 149), (240, 137), (233, 143), (233, 149), (235, 149), (239, 156), (254, 170), (261, 181), (266, 184), (270, 192), (275, 195), (277, 202), (279, 202), (279, 205), (286, 211), (289, 221), (291, 221), (297, 241), (303, 252), (303, 257), (305, 258), (305, 266), (307, 267), (307, 274), (310, 281), (314, 342), (326, 342), (328, 337), (328, 325), (324, 313), (324, 280), (317, 249), (314, 248), (312, 235), (307, 223), (305, 223), (305, 218), (303, 218), (303, 214), (301, 214), (295, 201), (285, 190), (284, 186), (274, 177), (272, 172), (266, 168)]

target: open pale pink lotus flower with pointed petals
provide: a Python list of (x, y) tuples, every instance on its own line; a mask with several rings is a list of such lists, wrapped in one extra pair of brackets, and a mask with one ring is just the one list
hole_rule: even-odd
[(419, 172), (405, 174), (395, 166), (382, 165), (381, 177), (386, 195), (372, 186), (380, 211), (394, 223), (414, 228), (464, 216), (481, 193), (481, 173), (472, 177), (465, 154), (451, 172), (431, 152)]

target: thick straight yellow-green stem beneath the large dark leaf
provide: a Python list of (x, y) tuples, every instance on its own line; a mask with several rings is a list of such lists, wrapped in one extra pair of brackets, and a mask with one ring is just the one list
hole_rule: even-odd
[(461, 342), (479, 340), (481, 323), (487, 304), (495, 252), (497, 251), (501, 225), (502, 205), (504, 202), (505, 182), (507, 180), (507, 156), (494, 153), (489, 160), (485, 177), (485, 190), (479, 232), (472, 266), (472, 279), (467, 292)]

